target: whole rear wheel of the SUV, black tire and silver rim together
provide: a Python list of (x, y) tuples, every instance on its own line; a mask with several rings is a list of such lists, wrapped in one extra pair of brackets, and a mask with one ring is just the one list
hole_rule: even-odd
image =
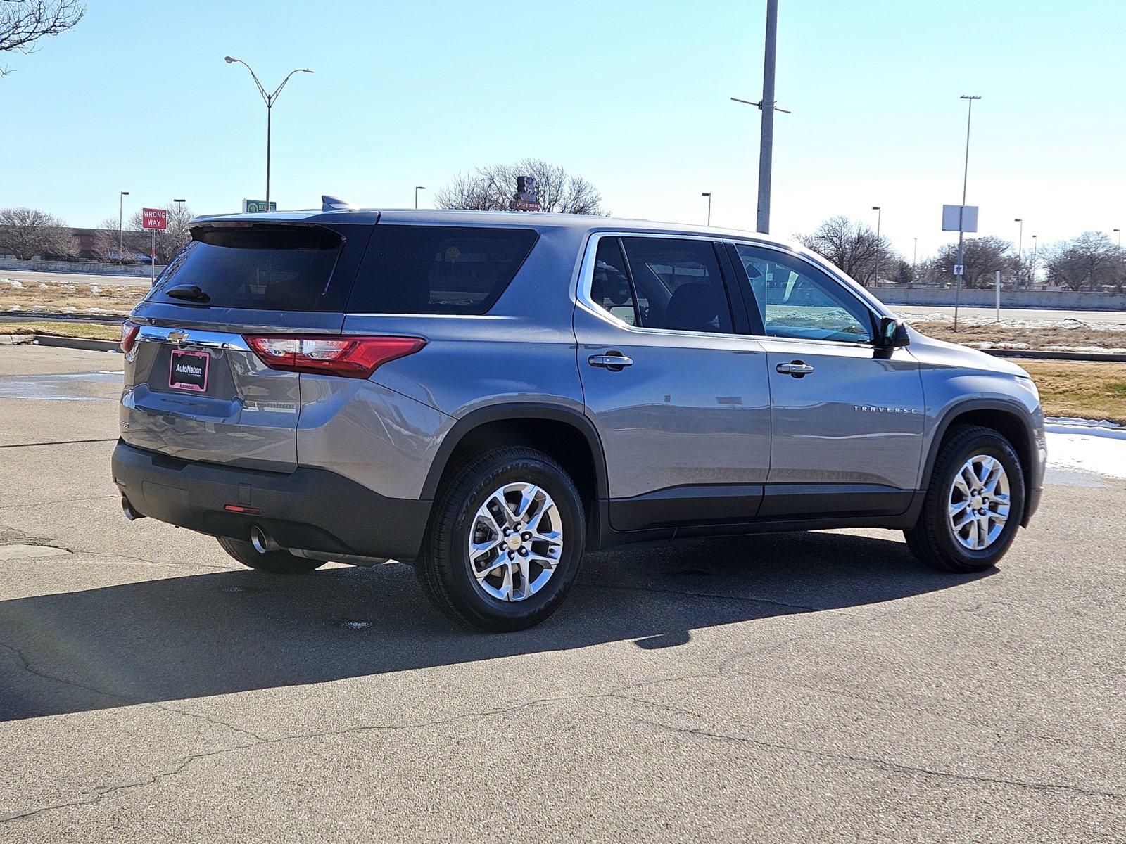
[(563, 602), (586, 531), (582, 499), (558, 463), (530, 448), (499, 448), (453, 467), (414, 571), (453, 619), (522, 630)]

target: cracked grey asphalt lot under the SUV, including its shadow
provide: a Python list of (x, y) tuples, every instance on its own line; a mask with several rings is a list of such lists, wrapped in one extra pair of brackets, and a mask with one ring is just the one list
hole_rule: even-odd
[(119, 368), (0, 347), (2, 842), (1126, 841), (1126, 482), (1053, 472), (984, 574), (650, 545), (488, 636), (126, 522)]

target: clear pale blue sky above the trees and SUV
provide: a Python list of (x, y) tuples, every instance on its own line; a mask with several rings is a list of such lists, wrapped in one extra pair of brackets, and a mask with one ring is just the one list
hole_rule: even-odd
[[(1126, 227), (1121, 0), (780, 0), (772, 233), (847, 214), (910, 260), (949, 235), (974, 107), (968, 203), (1025, 246)], [(187, 197), (271, 192), (402, 207), (459, 170), (537, 155), (618, 216), (754, 227), (765, 0), (191, 2), (89, 0), (73, 33), (0, 79), (0, 207), (71, 225)], [(422, 204), (428, 205), (427, 194)]]

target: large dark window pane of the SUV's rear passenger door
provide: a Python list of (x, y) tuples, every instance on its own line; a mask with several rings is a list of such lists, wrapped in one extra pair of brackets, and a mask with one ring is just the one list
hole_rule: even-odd
[(637, 296), (641, 324), (649, 329), (731, 334), (731, 307), (711, 241), (623, 237)]

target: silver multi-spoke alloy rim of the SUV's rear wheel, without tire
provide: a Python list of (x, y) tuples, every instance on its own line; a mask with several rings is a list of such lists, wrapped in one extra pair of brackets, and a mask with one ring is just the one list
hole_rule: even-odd
[(479, 590), (524, 601), (544, 587), (562, 558), (558, 508), (535, 484), (506, 484), (477, 509), (466, 551)]

